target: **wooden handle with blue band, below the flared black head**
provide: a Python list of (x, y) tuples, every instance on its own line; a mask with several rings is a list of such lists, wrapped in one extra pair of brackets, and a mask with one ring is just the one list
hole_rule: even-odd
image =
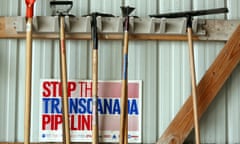
[(119, 143), (128, 143), (128, 31), (124, 32)]

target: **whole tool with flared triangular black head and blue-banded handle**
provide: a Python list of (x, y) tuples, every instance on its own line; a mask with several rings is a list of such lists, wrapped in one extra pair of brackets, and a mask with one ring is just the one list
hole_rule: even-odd
[(129, 15), (133, 12), (133, 7), (121, 7), (124, 20), (124, 40), (123, 40), (123, 68), (122, 68), (122, 90), (121, 90), (121, 115), (120, 115), (120, 144), (128, 143), (128, 33)]

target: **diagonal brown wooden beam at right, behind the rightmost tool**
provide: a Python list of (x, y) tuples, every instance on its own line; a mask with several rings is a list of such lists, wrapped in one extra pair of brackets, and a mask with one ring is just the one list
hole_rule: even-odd
[[(213, 64), (207, 70), (199, 85), (198, 113), (201, 117), (216, 97), (225, 81), (229, 78), (234, 68), (240, 61), (240, 25), (226, 43)], [(158, 140), (162, 143), (183, 143), (193, 129), (192, 98), (186, 100), (168, 128)]]

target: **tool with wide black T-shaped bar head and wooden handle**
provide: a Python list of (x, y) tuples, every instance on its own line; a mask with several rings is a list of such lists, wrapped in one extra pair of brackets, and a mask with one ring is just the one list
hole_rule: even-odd
[(226, 12), (228, 12), (227, 8), (218, 8), (218, 9), (210, 9), (210, 10), (198, 10), (198, 11), (187, 11), (187, 12), (179, 12), (179, 13), (160, 14), (160, 15), (150, 15), (151, 17), (157, 17), (157, 18), (162, 18), (162, 17), (165, 17), (165, 18), (186, 17), (187, 18), (187, 34), (188, 34), (189, 61), (190, 61), (189, 63), (190, 63), (190, 70), (191, 70), (193, 113), (194, 113), (196, 144), (200, 144), (200, 132), (199, 132), (199, 124), (198, 124), (196, 75), (195, 75), (195, 64), (194, 64), (193, 40), (192, 40), (192, 17), (193, 16), (201, 16), (201, 15), (226, 13)]

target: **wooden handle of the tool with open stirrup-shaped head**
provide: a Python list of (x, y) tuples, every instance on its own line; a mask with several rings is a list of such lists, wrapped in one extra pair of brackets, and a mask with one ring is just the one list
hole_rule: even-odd
[(68, 87), (67, 87), (67, 60), (66, 60), (66, 44), (65, 44), (65, 20), (64, 16), (60, 16), (60, 63), (61, 63), (61, 84), (63, 91), (63, 135), (64, 142), (70, 144), (70, 130), (68, 117)]

